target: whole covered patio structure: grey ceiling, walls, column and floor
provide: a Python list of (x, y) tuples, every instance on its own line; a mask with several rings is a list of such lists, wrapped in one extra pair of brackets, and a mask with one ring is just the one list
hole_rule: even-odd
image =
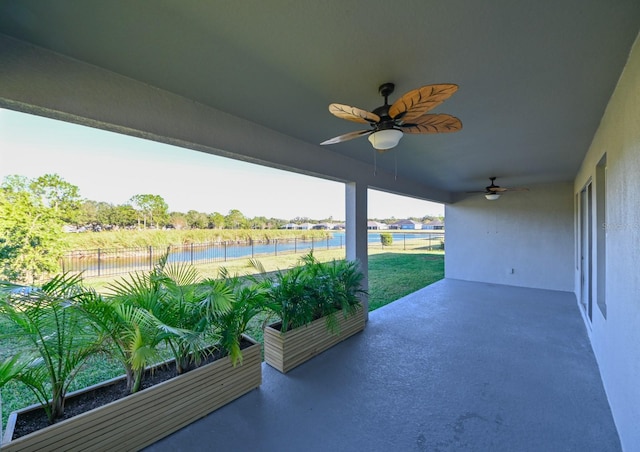
[[(0, 2), (0, 108), (343, 183), (365, 269), (368, 190), (445, 205), (447, 280), (151, 450), (640, 450), (639, 30), (637, 0)], [(388, 82), (455, 84), (462, 130), (320, 145)]]

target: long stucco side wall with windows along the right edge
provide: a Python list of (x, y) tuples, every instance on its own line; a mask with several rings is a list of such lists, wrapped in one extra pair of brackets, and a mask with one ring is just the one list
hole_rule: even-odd
[[(585, 317), (585, 322), (620, 440), (631, 451), (640, 450), (640, 38), (576, 177), (574, 193), (589, 181), (598, 182), (596, 167), (605, 153), (604, 224), (594, 218), (593, 228), (604, 232), (600, 240), (604, 238), (606, 251), (597, 255), (595, 233), (592, 249), (594, 264), (604, 259), (605, 287), (600, 289), (606, 317), (596, 307), (593, 319)], [(579, 269), (574, 279), (580, 299)], [(592, 293), (596, 300), (597, 281)]]

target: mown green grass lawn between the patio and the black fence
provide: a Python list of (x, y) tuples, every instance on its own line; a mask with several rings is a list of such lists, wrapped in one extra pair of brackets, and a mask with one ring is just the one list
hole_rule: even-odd
[[(324, 250), (314, 252), (319, 260), (344, 259), (344, 250)], [(294, 266), (300, 254), (280, 255), (277, 257), (259, 258), (267, 271), (285, 269)], [(247, 260), (226, 262), (225, 267), (238, 274), (253, 273)], [(220, 264), (198, 266), (204, 277), (216, 277)], [(403, 296), (428, 286), (444, 277), (444, 252), (429, 251), (424, 247), (406, 246), (405, 244), (369, 249), (369, 310), (372, 311)], [(91, 278), (85, 280), (87, 285), (104, 291), (105, 287), (115, 279)], [(256, 318), (250, 325), (249, 335), (262, 342), (263, 318)], [(14, 327), (0, 318), (0, 361), (11, 356), (19, 349), (20, 344), (11, 337)], [(80, 389), (122, 374), (117, 363), (101, 357), (94, 357), (89, 365), (78, 374), (73, 389)], [(24, 386), (10, 382), (0, 390), (2, 395), (2, 424), (6, 425), (11, 411), (36, 403), (34, 396)]]

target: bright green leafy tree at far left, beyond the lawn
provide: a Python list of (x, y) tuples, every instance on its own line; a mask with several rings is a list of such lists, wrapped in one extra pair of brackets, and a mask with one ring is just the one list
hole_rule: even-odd
[(8, 176), (0, 186), (0, 273), (35, 281), (59, 270), (62, 226), (76, 214), (79, 190), (57, 175)]

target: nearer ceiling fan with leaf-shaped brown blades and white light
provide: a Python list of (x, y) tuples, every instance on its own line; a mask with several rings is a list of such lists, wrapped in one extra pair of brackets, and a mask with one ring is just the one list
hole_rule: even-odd
[(388, 98), (394, 88), (393, 83), (380, 85), (378, 91), (384, 97), (384, 105), (373, 112), (343, 104), (329, 105), (329, 111), (338, 118), (368, 124), (371, 128), (345, 133), (320, 144), (342, 143), (369, 135), (369, 141), (375, 149), (386, 151), (397, 146), (404, 133), (443, 133), (457, 132), (462, 129), (462, 123), (455, 116), (426, 114), (455, 93), (458, 85), (452, 83), (426, 85), (409, 91), (389, 105)]

